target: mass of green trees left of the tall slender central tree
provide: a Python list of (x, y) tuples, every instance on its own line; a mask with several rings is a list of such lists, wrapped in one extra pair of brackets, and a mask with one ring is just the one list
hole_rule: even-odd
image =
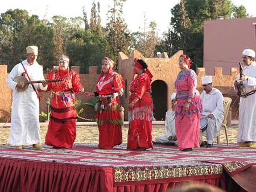
[(44, 70), (51, 69), (59, 56), (67, 53), (71, 65), (80, 65), (81, 73), (87, 73), (88, 66), (100, 65), (102, 57), (113, 55), (108, 40), (101, 35), (100, 16), (96, 18), (100, 35), (81, 27), (85, 19), (55, 15), (51, 23), (28, 15), (26, 10), (6, 11), (0, 17), (0, 63), (7, 64), (10, 71), (20, 60), (26, 59), (26, 47), (36, 45), (39, 47), (38, 62)]

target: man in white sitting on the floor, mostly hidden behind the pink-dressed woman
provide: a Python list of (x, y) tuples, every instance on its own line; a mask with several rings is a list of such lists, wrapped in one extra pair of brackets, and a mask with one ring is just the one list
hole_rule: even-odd
[[(176, 93), (173, 93), (171, 95), (172, 105), (174, 103), (175, 97)], [(164, 127), (166, 127), (166, 135), (155, 137), (155, 141), (153, 141), (153, 144), (176, 145), (177, 139), (175, 133), (175, 112), (172, 111), (172, 109), (166, 112)]]

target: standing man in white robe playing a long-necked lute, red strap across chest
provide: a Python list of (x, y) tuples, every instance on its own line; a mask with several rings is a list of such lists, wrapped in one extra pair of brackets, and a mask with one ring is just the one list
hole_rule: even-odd
[[(28, 79), (26, 69), (31, 81), (44, 81), (42, 84), (33, 84), (35, 89), (47, 89), (44, 80), (43, 68), (36, 62), (38, 47), (28, 46), (26, 48), (27, 59), (16, 64), (7, 77), (7, 85), (13, 90), (13, 103), (11, 106), (11, 132), (9, 143), (15, 145), (16, 149), (22, 149), (23, 145), (32, 144), (35, 149), (40, 149), (40, 127), (39, 127), (39, 99), (38, 95), (29, 84), (24, 91), (18, 88), (24, 87), (24, 82), (15, 82), (14, 79), (24, 76)], [(23, 66), (24, 68), (23, 68)]]

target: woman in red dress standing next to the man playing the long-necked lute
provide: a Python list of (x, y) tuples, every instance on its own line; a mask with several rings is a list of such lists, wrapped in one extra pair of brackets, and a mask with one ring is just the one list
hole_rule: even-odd
[(72, 148), (76, 139), (75, 93), (84, 92), (79, 74), (68, 68), (69, 58), (61, 55), (59, 69), (52, 70), (48, 80), (61, 79), (59, 82), (48, 82), (46, 91), (51, 94), (51, 116), (46, 133), (46, 144), (53, 148)]

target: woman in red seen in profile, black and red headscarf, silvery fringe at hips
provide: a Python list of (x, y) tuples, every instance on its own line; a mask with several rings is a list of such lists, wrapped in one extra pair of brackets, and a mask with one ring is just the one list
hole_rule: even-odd
[(152, 148), (152, 100), (151, 78), (147, 64), (141, 59), (134, 60), (134, 74), (130, 84), (129, 97), (129, 130), (127, 149), (144, 151)]

